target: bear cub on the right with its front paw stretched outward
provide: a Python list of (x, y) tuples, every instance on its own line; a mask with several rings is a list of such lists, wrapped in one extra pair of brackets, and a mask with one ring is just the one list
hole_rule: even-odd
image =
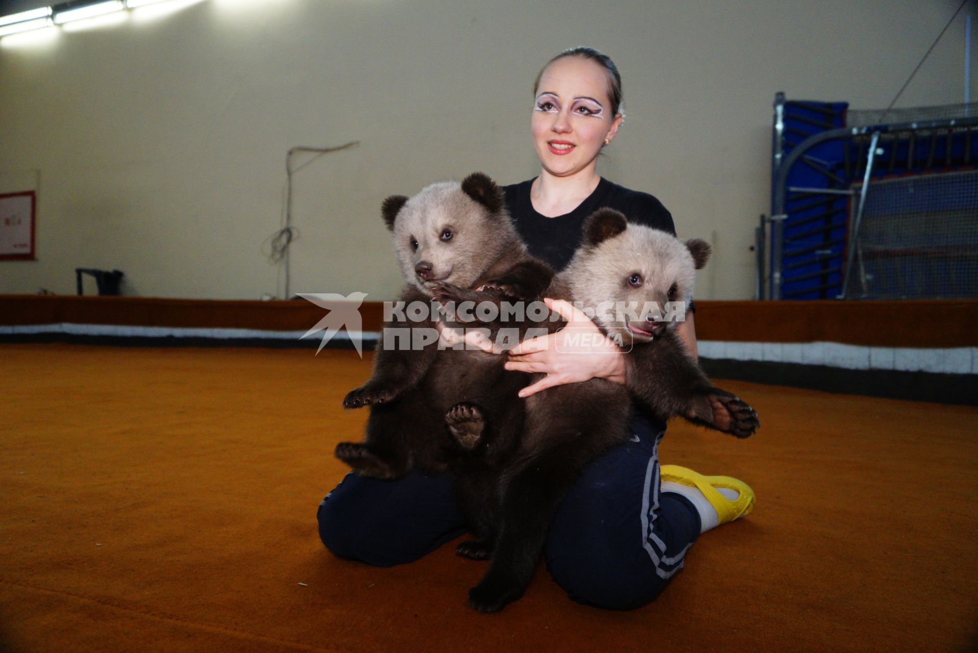
[[(468, 495), (464, 505), (481, 506), (478, 518), (471, 519), (478, 540), (457, 550), (466, 557), (492, 558), (485, 577), (469, 591), (472, 607), (495, 612), (522, 595), (567, 488), (588, 462), (629, 438), (632, 396), (662, 419), (679, 415), (739, 438), (758, 427), (749, 406), (706, 378), (674, 325), (642, 311), (645, 302), (662, 309), (667, 302), (689, 302), (695, 270), (705, 265), (709, 249), (702, 240), (684, 243), (629, 224), (611, 209), (588, 219), (581, 246), (545, 295), (591, 309), (606, 335), (631, 343), (623, 351), (627, 383), (595, 378), (531, 395), (511, 451), (503, 457), (467, 457), (467, 473), (457, 472), (457, 490)], [(445, 283), (436, 294), (450, 301), (494, 299)], [(602, 310), (608, 302), (631, 303), (635, 314)], [(531, 382), (541, 377), (534, 374)], [(478, 435), (477, 428), (474, 432)]]

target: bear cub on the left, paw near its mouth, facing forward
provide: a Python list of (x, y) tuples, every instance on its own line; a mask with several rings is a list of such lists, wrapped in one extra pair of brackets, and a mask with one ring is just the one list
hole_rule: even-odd
[[(554, 276), (547, 264), (530, 256), (506, 212), (502, 189), (484, 174), (473, 173), (461, 184), (432, 184), (411, 198), (387, 197), (381, 213), (394, 235), (407, 282), (401, 300), (408, 306), (429, 306), (439, 283), (490, 286), (484, 292), (494, 298), (533, 299)], [(397, 317), (384, 324), (388, 334), (396, 329), (435, 332), (430, 312), (420, 321), (411, 319), (411, 311)], [(363, 442), (342, 442), (335, 449), (336, 457), (358, 473), (397, 478), (416, 466), (444, 471), (454, 450), (478, 451), (472, 423), (480, 434), (508, 434), (502, 439), (520, 432), (522, 407), (516, 393), (529, 374), (504, 370), (506, 357), (446, 349), (436, 341), (403, 347), (404, 340), (391, 338), (384, 346), (385, 340), (378, 341), (370, 380), (343, 400), (346, 408), (371, 407)]]

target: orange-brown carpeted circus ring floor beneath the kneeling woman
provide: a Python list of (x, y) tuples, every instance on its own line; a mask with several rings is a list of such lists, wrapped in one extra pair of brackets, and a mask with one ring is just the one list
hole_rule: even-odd
[[(722, 383), (763, 427), (674, 422), (667, 463), (747, 481), (653, 604), (503, 613), (447, 545), (339, 560), (315, 512), (366, 413), (352, 351), (0, 345), (7, 651), (963, 651), (978, 617), (978, 409)], [(298, 585), (306, 584), (306, 587)]]

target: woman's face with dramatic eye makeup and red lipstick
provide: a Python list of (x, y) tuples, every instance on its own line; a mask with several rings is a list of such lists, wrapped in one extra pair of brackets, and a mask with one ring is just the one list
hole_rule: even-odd
[(611, 115), (604, 68), (581, 57), (564, 57), (547, 66), (533, 105), (533, 146), (544, 169), (568, 177), (588, 167), (621, 124)]

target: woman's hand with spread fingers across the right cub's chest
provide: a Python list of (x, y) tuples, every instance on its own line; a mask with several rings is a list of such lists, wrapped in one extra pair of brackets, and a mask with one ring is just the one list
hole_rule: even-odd
[(507, 370), (547, 374), (520, 390), (519, 396), (529, 397), (555, 385), (591, 378), (606, 378), (624, 384), (625, 359), (621, 349), (605, 337), (583, 311), (569, 302), (549, 298), (544, 301), (568, 324), (556, 333), (524, 340), (511, 349)]

